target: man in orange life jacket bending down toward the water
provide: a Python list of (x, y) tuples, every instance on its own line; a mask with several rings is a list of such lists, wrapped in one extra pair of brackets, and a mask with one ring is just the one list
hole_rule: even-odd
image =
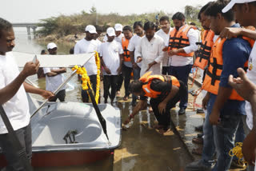
[(152, 71), (147, 72), (139, 80), (130, 83), (130, 93), (141, 98), (124, 124), (134, 118), (146, 105), (147, 97), (150, 97), (150, 105), (158, 120), (158, 129), (160, 133), (164, 133), (170, 126), (170, 109), (187, 93), (187, 89), (182, 81), (173, 76), (150, 75), (151, 73)]

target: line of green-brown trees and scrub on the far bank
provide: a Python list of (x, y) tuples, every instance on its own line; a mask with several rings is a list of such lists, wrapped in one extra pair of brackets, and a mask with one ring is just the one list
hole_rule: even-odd
[[(197, 15), (199, 10), (200, 6), (186, 6), (185, 15), (187, 20), (198, 24)], [(61, 14), (58, 17), (42, 19), (38, 24), (41, 29), (37, 31), (37, 34), (41, 36), (47, 36), (50, 34), (57, 34), (58, 36), (79, 34), (84, 32), (84, 28), (87, 25), (96, 24), (102, 26), (103, 30), (106, 30), (109, 26), (114, 26), (115, 23), (121, 23), (123, 26), (132, 26), (136, 21), (156, 22), (155, 16), (157, 14), (159, 14), (160, 18), (164, 15), (171, 18), (173, 15), (173, 13), (165, 13), (164, 11), (129, 15), (120, 15), (118, 13), (99, 14), (97, 13), (97, 9), (93, 6), (88, 13), (85, 10), (82, 10), (79, 14), (72, 14), (69, 16)]]

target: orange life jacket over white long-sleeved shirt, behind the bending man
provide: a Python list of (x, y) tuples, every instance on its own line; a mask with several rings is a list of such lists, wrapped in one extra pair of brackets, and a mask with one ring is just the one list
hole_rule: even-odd
[[(187, 37), (187, 33), (190, 29), (193, 29), (193, 27), (188, 25), (182, 26), (180, 30), (176, 30), (176, 28), (174, 28), (170, 32), (169, 50), (177, 50), (186, 46), (190, 46), (190, 40)], [(177, 55), (183, 57), (193, 57), (194, 52), (191, 52), (190, 54), (179, 53)]]

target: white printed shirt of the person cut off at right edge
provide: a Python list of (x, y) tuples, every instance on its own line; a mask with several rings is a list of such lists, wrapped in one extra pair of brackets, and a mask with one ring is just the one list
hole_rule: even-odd
[[(250, 53), (250, 57), (248, 60), (248, 70), (246, 75), (251, 82), (254, 82), (254, 84), (256, 84), (256, 42), (254, 43), (254, 47)], [(250, 102), (246, 101), (246, 123), (250, 129), (252, 129), (254, 126), (253, 114), (254, 113), (252, 111)]]

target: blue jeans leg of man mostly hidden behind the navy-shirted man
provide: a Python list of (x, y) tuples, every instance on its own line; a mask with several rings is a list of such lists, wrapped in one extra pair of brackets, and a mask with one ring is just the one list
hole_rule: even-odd
[[(208, 103), (210, 105), (210, 102)], [(213, 125), (210, 125), (210, 111), (209, 107), (206, 113), (206, 119), (203, 123), (203, 146), (202, 146), (202, 163), (204, 165), (211, 165), (210, 161), (213, 161), (214, 153), (215, 153), (215, 145), (214, 145), (214, 129)]]

